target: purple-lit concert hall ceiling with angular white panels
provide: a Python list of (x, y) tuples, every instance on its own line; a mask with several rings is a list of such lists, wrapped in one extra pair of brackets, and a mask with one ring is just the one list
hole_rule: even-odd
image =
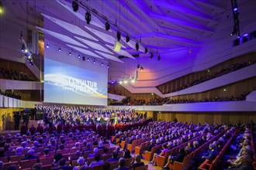
[[(230, 1), (223, 0), (86, 0), (78, 1), (78, 12), (73, 12), (72, 0), (19, 0), (3, 3), (16, 11), (12, 15), (20, 21), (26, 20), (25, 23), (30, 26), (39, 26), (39, 29), (44, 27), (42, 31), (52, 32), (51, 39), (57, 40), (60, 46), (74, 46), (73, 49), (78, 53), (84, 51), (85, 55), (85, 49), (88, 49), (95, 54), (88, 56), (99, 56), (114, 63), (123, 63), (118, 56), (133, 59), (131, 55), (149, 57), (150, 52), (168, 56), (176, 51), (196, 51), (202, 42), (213, 35), (223, 12), (230, 7)], [(92, 14), (89, 25), (85, 23), (85, 12), (88, 9)], [(26, 15), (19, 15), (20, 12)], [(51, 26), (45, 25), (47, 19), (52, 22)], [(111, 26), (109, 31), (105, 30), (106, 20)], [(122, 35), (122, 49), (119, 53), (112, 50), (117, 31)], [(128, 43), (125, 42), (127, 34), (131, 39)], [(77, 42), (84, 46), (78, 46)], [(136, 42), (140, 44), (139, 51), (135, 48)], [(144, 53), (146, 46), (149, 53)]]

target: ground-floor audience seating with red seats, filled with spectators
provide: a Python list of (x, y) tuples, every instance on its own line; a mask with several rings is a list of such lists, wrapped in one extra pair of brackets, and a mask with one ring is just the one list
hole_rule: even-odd
[[(256, 168), (254, 130), (253, 121), (250, 124), (152, 121), (127, 131), (115, 131), (110, 141), (116, 146), (92, 130), (62, 131), (60, 134), (56, 131), (52, 134), (36, 132), (31, 136), (7, 134), (6, 137), (0, 136), (0, 161), (3, 162), (3, 169), (9, 165), (17, 165), (23, 170), (31, 169), (40, 162), (41, 169), (68, 166), (97, 170), (117, 168), (120, 158), (124, 158), (124, 165), (129, 169), (148, 169), (147, 163), (140, 168), (130, 166), (134, 164), (134, 153), (135, 157), (141, 155), (144, 162), (152, 164), (151, 168), (209, 170), (240, 165), (237, 162), (244, 163), (240, 160), (244, 160), (249, 153), (252, 161), (249, 159), (245, 163)], [(185, 150), (185, 154), (182, 159), (175, 159), (181, 155), (181, 149)], [(99, 164), (95, 163), (100, 161), (97, 155), (103, 160)], [(237, 155), (232, 163), (230, 155)], [(224, 165), (230, 163), (230, 167), (220, 166), (221, 162)]]

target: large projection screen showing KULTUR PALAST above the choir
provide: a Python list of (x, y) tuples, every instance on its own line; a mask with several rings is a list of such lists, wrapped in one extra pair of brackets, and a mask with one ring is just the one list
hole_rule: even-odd
[[(81, 54), (81, 56), (83, 56)], [(55, 47), (44, 50), (44, 102), (107, 105), (108, 68)]]

